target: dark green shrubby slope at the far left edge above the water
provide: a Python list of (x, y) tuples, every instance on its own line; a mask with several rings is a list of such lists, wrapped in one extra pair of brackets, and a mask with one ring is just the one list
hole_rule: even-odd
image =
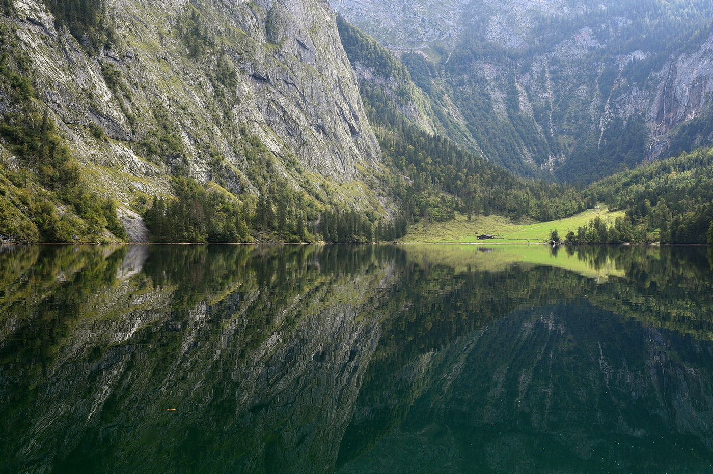
[(9, 97), (0, 139), (19, 162), (0, 160), (0, 236), (20, 241), (124, 239), (116, 204), (89, 191), (51, 111), (36, 99), (29, 59), (0, 25), (0, 93)]

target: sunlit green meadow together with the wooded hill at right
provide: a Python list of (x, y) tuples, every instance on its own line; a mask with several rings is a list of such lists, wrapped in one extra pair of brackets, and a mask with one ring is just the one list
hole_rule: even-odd
[(642, 164), (586, 189), (602, 206), (545, 222), (515, 222), (503, 216), (467, 218), (412, 226), (406, 242), (541, 243), (558, 231), (565, 243), (713, 244), (713, 149)]

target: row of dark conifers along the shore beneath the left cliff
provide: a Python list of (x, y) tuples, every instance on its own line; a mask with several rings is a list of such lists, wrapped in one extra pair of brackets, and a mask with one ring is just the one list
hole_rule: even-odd
[(372, 243), (406, 233), (396, 222), (367, 217), (361, 211), (324, 209), (317, 218), (302, 191), (276, 181), (255, 198), (239, 202), (225, 192), (206, 189), (194, 179), (173, 179), (175, 198), (155, 197), (143, 214), (153, 242), (226, 243), (252, 241)]

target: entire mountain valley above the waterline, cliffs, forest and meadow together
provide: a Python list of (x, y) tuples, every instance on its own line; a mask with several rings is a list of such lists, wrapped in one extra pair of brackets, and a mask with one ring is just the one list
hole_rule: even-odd
[(703, 1), (1, 6), (3, 242), (713, 238)]

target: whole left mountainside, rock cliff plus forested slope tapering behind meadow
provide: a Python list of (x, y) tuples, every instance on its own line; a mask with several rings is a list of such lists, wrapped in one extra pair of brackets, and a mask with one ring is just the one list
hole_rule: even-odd
[(366, 242), (584, 209), (448, 139), (407, 66), (320, 2), (86, 5), (4, 4), (5, 241)]

